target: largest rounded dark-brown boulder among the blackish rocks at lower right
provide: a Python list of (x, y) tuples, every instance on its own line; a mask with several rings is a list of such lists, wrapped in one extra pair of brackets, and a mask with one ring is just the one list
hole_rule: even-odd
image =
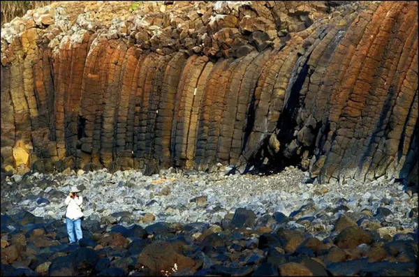
[(362, 230), (358, 226), (346, 227), (337, 236), (337, 246), (339, 248), (356, 248), (360, 244), (371, 244), (372, 234)]

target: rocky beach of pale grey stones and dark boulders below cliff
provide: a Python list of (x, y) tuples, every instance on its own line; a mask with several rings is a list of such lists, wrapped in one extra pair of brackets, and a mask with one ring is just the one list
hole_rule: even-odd
[[(307, 172), (134, 170), (1, 181), (1, 272), (99, 276), (413, 276), (418, 193), (397, 180), (312, 184)], [(316, 182), (315, 182), (316, 183)], [(63, 216), (84, 198), (79, 244)]]

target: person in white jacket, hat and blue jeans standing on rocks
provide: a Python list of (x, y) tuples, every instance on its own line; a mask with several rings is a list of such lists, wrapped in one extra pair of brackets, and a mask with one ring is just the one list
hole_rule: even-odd
[(78, 193), (80, 193), (80, 190), (77, 188), (77, 186), (73, 186), (65, 201), (67, 205), (66, 225), (68, 241), (71, 244), (73, 244), (76, 239), (77, 241), (80, 241), (80, 239), (83, 237), (81, 219), (83, 216), (81, 209), (83, 197), (78, 195)]

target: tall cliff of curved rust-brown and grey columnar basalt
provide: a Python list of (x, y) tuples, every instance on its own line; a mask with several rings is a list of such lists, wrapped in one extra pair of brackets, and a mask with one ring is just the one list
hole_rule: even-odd
[(29, 11), (1, 29), (1, 168), (300, 165), (319, 182), (417, 181), (417, 12), (320, 1)]

